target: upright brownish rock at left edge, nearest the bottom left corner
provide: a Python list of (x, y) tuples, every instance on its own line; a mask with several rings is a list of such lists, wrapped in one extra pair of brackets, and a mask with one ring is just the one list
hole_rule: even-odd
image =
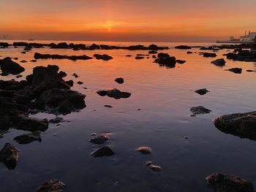
[(3, 162), (8, 169), (15, 169), (18, 162), (18, 149), (7, 142), (0, 151), (0, 161)]

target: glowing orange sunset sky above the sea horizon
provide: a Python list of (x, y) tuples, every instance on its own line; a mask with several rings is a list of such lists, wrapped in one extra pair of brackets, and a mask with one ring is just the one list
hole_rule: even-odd
[(211, 42), (256, 31), (256, 0), (0, 0), (0, 37)]

